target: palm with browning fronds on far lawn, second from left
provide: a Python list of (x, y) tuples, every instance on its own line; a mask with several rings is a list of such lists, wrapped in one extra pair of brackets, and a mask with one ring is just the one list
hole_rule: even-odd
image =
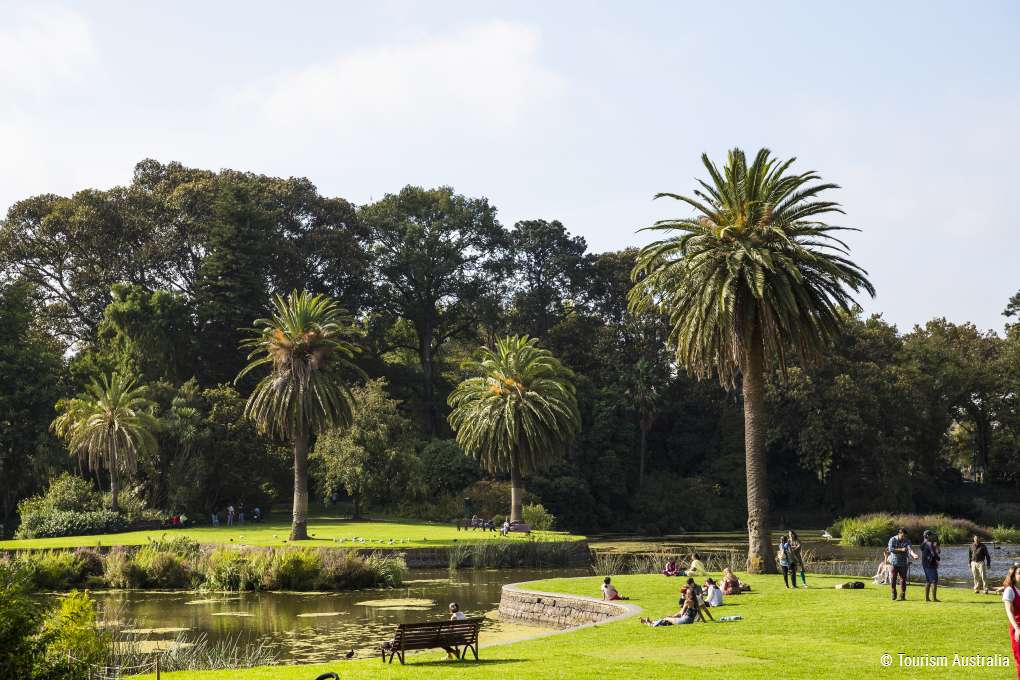
[(352, 374), (362, 374), (351, 361), (357, 347), (344, 310), (323, 295), (293, 291), (272, 299), (272, 316), (257, 319), (252, 336), (241, 347), (251, 350), (248, 373), (268, 366), (245, 404), (245, 417), (271, 436), (294, 444), (294, 515), (291, 540), (308, 538), (308, 447), (311, 436), (328, 427), (350, 426), (354, 397)]

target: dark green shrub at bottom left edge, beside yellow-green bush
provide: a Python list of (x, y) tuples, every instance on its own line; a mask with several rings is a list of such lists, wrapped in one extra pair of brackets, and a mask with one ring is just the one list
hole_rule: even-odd
[(32, 574), (19, 561), (0, 558), (0, 671), (8, 678), (32, 677), (33, 635), (42, 614), (32, 596)]

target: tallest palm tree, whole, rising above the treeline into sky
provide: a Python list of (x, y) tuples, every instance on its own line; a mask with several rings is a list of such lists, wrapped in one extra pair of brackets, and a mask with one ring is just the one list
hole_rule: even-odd
[(820, 218), (842, 213), (820, 200), (836, 185), (814, 171), (787, 172), (762, 149), (749, 166), (729, 152), (722, 172), (707, 155), (710, 181), (693, 197), (659, 194), (695, 215), (648, 227), (667, 236), (642, 249), (630, 292), (633, 310), (669, 315), (677, 363), (699, 378), (716, 375), (744, 396), (747, 458), (748, 569), (771, 571), (765, 466), (765, 375), (784, 370), (787, 352), (817, 358), (839, 332), (855, 303), (850, 291), (874, 296), (867, 272), (836, 238), (847, 227)]

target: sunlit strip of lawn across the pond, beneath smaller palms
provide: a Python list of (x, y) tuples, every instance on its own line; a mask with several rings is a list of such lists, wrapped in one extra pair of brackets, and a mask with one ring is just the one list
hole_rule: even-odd
[[(289, 543), (290, 520), (277, 520), (244, 526), (201, 526), (187, 529), (158, 529), (155, 531), (128, 531), (93, 536), (65, 536), (62, 538), (32, 538), (0, 540), (0, 550), (26, 550), (50, 547), (79, 547), (102, 545), (140, 545), (162, 535), (190, 536), (200, 543), (237, 545), (312, 545), (320, 547), (358, 546), (374, 548), (401, 548), (446, 546), (456, 541), (499, 540), (491, 531), (457, 531), (450, 524), (431, 524), (410, 520), (349, 520), (339, 517), (312, 517), (308, 521), (308, 540)], [(572, 536), (557, 531), (536, 531), (540, 539), (570, 540)], [(337, 541), (343, 538), (343, 541)], [(364, 538), (364, 542), (352, 541)], [(510, 539), (522, 540), (522, 534), (511, 534)], [(390, 541), (394, 541), (391, 543)], [(503, 540), (507, 540), (503, 538)]]

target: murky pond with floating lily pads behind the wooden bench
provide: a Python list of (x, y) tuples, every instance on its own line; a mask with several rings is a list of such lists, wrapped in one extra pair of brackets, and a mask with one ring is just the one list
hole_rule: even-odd
[[(506, 583), (586, 574), (586, 569), (414, 570), (402, 587), (348, 592), (119, 590), (94, 595), (147, 648), (204, 634), (213, 644), (238, 638), (244, 644), (263, 643), (277, 661), (318, 663), (351, 649), (357, 657), (372, 656), (393, 636), (396, 624), (446, 619), (451, 601), (468, 616), (484, 616), (499, 607)], [(482, 641), (534, 632), (516, 628), (490, 618)]]

